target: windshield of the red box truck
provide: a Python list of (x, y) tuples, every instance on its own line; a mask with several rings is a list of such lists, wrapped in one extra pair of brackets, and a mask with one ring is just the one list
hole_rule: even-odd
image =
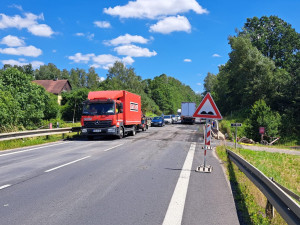
[(83, 106), (83, 115), (114, 115), (114, 103), (89, 103)]

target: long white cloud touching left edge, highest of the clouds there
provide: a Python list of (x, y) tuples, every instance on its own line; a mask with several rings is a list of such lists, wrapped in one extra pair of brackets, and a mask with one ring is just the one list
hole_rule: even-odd
[(44, 20), (44, 15), (35, 15), (33, 13), (25, 13), (25, 17), (19, 15), (7, 16), (0, 14), (0, 29), (17, 28), (27, 29), (28, 32), (36, 36), (51, 37), (54, 34), (50, 26), (46, 24), (39, 24), (37, 20)]

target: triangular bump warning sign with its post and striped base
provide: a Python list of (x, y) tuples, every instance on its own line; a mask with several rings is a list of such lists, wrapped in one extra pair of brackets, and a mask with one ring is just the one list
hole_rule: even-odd
[(197, 167), (197, 172), (202, 173), (211, 173), (212, 166), (206, 164), (206, 151), (211, 149), (210, 147), (210, 139), (211, 139), (211, 124), (209, 121), (212, 119), (221, 120), (222, 116), (217, 108), (214, 100), (212, 99), (210, 93), (207, 93), (202, 99), (200, 105), (196, 109), (193, 117), (199, 117), (206, 119), (205, 122), (205, 135), (204, 135), (204, 163)]

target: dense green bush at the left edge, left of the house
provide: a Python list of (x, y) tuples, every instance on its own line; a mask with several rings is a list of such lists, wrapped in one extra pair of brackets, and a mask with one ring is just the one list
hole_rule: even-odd
[(47, 99), (45, 89), (32, 83), (31, 75), (16, 68), (7, 68), (0, 73), (0, 104), (3, 105), (1, 126), (5, 128), (37, 126), (44, 117)]

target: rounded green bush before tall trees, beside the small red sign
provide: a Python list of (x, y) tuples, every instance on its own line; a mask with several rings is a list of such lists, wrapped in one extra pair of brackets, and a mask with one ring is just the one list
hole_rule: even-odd
[(272, 112), (264, 100), (259, 100), (254, 103), (251, 109), (248, 124), (249, 127), (246, 130), (248, 137), (256, 141), (260, 140), (259, 127), (265, 127), (267, 136), (275, 137), (278, 135), (280, 115)]

